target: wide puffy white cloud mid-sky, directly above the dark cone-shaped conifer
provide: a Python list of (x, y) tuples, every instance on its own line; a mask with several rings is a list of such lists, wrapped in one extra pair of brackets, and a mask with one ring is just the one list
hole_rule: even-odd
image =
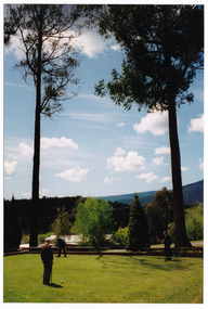
[(136, 152), (130, 151), (127, 156), (113, 156), (107, 158), (107, 168), (116, 171), (130, 171), (143, 169), (146, 165), (145, 158)]

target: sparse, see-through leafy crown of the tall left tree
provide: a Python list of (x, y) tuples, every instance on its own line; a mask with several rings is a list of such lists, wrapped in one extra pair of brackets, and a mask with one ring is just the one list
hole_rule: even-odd
[(72, 40), (80, 35), (77, 17), (74, 5), (8, 5), (5, 41), (14, 34), (21, 38), (25, 56), (16, 67), (23, 69), (25, 81), (32, 80), (38, 87), (41, 74), (40, 113), (48, 117), (62, 111), (61, 101), (75, 95), (65, 91), (66, 86), (79, 81), (75, 77), (78, 53), (72, 47)]

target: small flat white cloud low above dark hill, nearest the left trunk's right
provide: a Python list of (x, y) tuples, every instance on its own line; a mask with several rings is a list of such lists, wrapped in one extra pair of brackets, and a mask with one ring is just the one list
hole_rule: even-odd
[(60, 177), (62, 179), (65, 179), (72, 182), (81, 182), (87, 177), (88, 171), (89, 171), (88, 168), (83, 169), (83, 168), (77, 167), (77, 168), (67, 169), (60, 173), (55, 173), (55, 177)]

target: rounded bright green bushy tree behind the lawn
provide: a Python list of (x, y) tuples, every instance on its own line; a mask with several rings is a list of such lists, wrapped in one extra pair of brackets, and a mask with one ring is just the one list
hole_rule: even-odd
[(113, 207), (104, 199), (89, 197), (77, 207), (75, 230), (84, 243), (99, 247), (114, 230)]

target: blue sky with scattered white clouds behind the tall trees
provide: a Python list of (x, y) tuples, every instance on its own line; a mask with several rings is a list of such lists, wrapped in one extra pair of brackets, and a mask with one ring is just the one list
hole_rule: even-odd
[[(41, 118), (40, 196), (103, 196), (171, 189), (166, 113), (125, 111), (98, 98), (94, 85), (120, 68), (115, 41), (84, 33), (77, 70), (79, 94), (52, 120)], [(76, 42), (80, 46), (80, 41)], [(17, 38), (4, 51), (4, 197), (30, 198), (35, 89), (14, 69)], [(204, 73), (192, 85), (194, 103), (178, 111), (183, 185), (204, 178)]]

